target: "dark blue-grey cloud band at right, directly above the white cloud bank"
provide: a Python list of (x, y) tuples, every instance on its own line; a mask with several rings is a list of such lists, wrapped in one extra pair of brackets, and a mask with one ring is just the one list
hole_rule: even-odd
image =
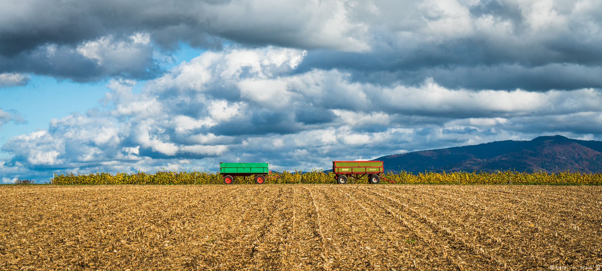
[[(600, 47), (596, 48), (596, 50)], [(422, 50), (422, 49), (421, 49)], [(474, 48), (479, 50), (479, 48)], [(373, 84), (420, 85), (426, 78), (433, 78), (447, 88), (470, 90), (528, 91), (577, 90), (602, 87), (602, 52), (586, 53), (580, 61), (577, 57), (548, 59), (532, 65), (512, 57), (491, 59), (474, 58), (474, 52), (447, 52), (437, 55), (404, 52), (403, 54), (338, 52), (314, 50), (297, 68), (304, 73), (312, 69), (338, 69), (349, 72), (358, 82)], [(418, 55), (407, 57), (417, 53)], [(429, 55), (430, 53), (430, 55)], [(551, 52), (550, 52), (551, 54)], [(581, 57), (581, 56), (579, 56)], [(539, 62), (539, 61), (538, 61)]]

